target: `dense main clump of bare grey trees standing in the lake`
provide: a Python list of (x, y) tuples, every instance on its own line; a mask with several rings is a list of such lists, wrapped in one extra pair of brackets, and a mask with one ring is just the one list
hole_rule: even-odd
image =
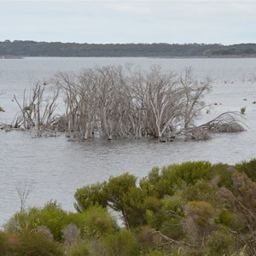
[(178, 78), (157, 66), (87, 68), (59, 73), (56, 84), (66, 96), (68, 135), (84, 139), (175, 136), (194, 125), (211, 87), (209, 79), (193, 79), (191, 69)]

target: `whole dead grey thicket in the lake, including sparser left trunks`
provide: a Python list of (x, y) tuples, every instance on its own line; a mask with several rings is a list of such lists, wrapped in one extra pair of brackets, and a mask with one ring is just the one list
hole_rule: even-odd
[[(79, 140), (179, 135), (205, 139), (212, 124), (218, 125), (214, 119), (195, 126), (211, 80), (196, 80), (191, 68), (177, 74), (160, 66), (148, 71), (128, 64), (94, 67), (80, 73), (58, 73), (50, 83), (55, 86), (51, 95), (46, 92), (49, 84), (38, 82), (29, 100), (25, 92), (22, 104), (14, 96), (20, 107), (15, 127), (65, 131), (67, 137)], [(57, 102), (64, 106), (61, 115), (55, 113)], [(224, 121), (230, 125), (229, 120), (222, 116), (222, 127)]]

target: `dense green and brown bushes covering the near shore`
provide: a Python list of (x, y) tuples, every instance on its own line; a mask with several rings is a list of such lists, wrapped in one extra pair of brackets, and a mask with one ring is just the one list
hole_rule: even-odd
[(255, 255), (256, 160), (124, 173), (79, 188), (77, 212), (20, 207), (0, 231), (7, 255)]

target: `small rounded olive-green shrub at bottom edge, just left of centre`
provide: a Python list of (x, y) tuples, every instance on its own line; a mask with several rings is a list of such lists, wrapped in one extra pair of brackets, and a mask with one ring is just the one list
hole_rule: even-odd
[(129, 230), (119, 230), (119, 232), (107, 236), (104, 239), (104, 246), (107, 255), (137, 256), (139, 250), (137, 240)]

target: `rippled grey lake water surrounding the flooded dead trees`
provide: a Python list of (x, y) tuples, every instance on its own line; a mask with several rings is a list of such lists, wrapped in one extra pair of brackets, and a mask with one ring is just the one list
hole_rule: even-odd
[[(0, 226), (15, 212), (20, 201), (16, 186), (33, 181), (26, 206), (44, 206), (56, 200), (73, 211), (73, 195), (79, 187), (101, 182), (109, 176), (131, 172), (143, 177), (153, 166), (187, 160), (210, 160), (235, 164), (256, 157), (256, 59), (148, 59), (148, 58), (25, 58), (0, 59), (0, 123), (10, 123), (18, 108), (14, 95), (22, 97), (38, 79), (48, 80), (58, 71), (79, 71), (96, 65), (135, 63), (147, 69), (161, 65), (179, 73), (192, 67), (195, 77), (212, 78), (206, 96), (203, 123), (225, 111), (246, 107), (247, 131), (216, 134), (206, 142), (157, 143), (154, 140), (92, 140), (71, 143), (65, 136), (32, 138), (31, 132), (0, 131)], [(218, 105), (215, 105), (217, 103)]]

